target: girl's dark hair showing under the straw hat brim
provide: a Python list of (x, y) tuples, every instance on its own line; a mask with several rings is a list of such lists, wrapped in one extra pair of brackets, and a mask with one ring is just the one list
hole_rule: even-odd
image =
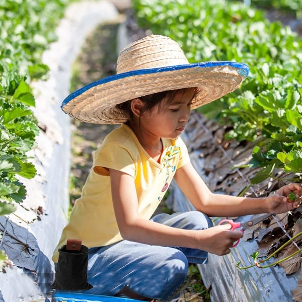
[[(189, 87), (189, 88), (182, 88), (177, 90), (167, 90), (167, 91), (161, 91), (158, 93), (146, 95), (143, 97), (139, 97), (139, 99), (143, 102), (143, 107), (141, 108), (140, 113), (149, 112), (154, 108), (155, 106), (159, 105), (159, 111), (163, 106), (169, 106), (175, 95), (179, 92), (182, 92), (185, 94), (188, 90), (194, 89), (195, 95), (199, 92), (198, 88), (196, 87)], [(165, 99), (165, 102), (162, 103), (162, 101)], [(126, 101), (124, 103), (121, 103), (117, 105), (118, 109), (120, 109), (126, 116), (127, 120), (131, 120), (133, 117), (133, 112), (131, 110), (131, 101)]]

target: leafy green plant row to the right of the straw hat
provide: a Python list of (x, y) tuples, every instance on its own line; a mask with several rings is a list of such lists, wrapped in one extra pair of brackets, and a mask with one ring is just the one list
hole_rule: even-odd
[[(300, 1), (282, 3), (283, 9), (302, 7)], [(280, 170), (283, 179), (300, 181), (302, 40), (297, 34), (241, 2), (134, 0), (133, 9), (141, 28), (176, 40), (192, 63), (235, 60), (250, 66), (240, 89), (199, 111), (230, 125), (227, 138), (255, 141), (249, 165), (261, 170), (252, 183), (277, 177)]]

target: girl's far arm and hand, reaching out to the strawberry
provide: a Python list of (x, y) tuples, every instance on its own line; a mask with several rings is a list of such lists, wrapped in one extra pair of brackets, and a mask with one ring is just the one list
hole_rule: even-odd
[(290, 184), (278, 190), (277, 194), (263, 198), (237, 197), (214, 194), (206, 186), (191, 163), (176, 171), (175, 181), (194, 207), (209, 216), (241, 216), (257, 213), (282, 213), (298, 207), (298, 201), (289, 203), (285, 195), (294, 192), (302, 194), (298, 184)]

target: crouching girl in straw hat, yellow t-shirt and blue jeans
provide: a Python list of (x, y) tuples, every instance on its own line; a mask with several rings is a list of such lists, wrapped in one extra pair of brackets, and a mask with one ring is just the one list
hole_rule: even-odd
[[(185, 280), (189, 263), (230, 253), (243, 237), (209, 216), (281, 213), (298, 207), (290, 184), (265, 198), (214, 194), (190, 163), (180, 135), (191, 109), (235, 90), (247, 77), (236, 62), (189, 64), (178, 44), (151, 35), (119, 54), (117, 74), (69, 95), (62, 109), (91, 123), (121, 124), (99, 147), (58, 248), (68, 238), (88, 246), (93, 294), (167, 299)], [(196, 211), (153, 214), (174, 179)]]

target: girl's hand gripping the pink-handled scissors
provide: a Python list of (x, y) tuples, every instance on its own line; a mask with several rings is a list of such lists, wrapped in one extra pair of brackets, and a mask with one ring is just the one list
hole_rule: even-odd
[(221, 224), (198, 231), (200, 235), (199, 249), (219, 256), (229, 254), (231, 247), (243, 237), (240, 230), (231, 231), (231, 224)]

